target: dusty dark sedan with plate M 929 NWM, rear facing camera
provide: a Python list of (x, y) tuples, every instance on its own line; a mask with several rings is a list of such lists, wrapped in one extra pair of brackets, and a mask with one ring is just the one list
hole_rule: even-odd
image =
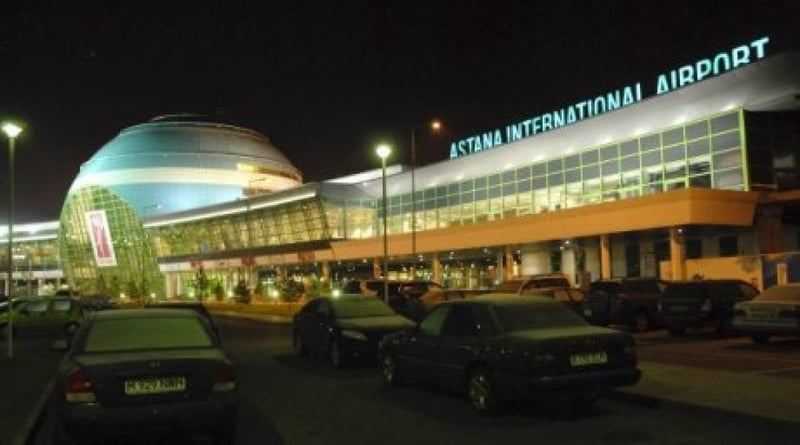
[(193, 311), (95, 312), (54, 347), (67, 349), (51, 401), (55, 443), (146, 443), (163, 432), (234, 443), (235, 367)]

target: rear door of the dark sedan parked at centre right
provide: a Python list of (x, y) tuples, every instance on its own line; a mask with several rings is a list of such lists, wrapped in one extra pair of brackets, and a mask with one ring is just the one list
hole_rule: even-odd
[(440, 334), (436, 384), (458, 391), (463, 388), (467, 367), (479, 353), (478, 325), (471, 305), (453, 305)]

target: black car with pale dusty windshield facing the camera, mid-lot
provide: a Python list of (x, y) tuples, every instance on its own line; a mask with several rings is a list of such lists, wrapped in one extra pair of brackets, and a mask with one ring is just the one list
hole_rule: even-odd
[(384, 335), (411, 329), (414, 322), (383, 301), (345, 294), (310, 300), (293, 318), (292, 338), (299, 355), (327, 356), (335, 368), (349, 360), (377, 360)]

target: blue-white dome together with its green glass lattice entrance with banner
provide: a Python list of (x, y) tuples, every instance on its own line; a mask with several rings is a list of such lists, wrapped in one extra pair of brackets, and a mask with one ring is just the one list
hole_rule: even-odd
[(300, 185), (300, 172), (252, 130), (189, 115), (126, 128), (69, 189), (59, 218), (64, 275), (87, 293), (163, 296), (146, 220)]

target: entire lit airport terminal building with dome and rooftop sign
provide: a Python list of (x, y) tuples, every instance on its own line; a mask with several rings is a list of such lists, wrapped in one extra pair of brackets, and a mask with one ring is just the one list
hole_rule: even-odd
[(154, 119), (82, 166), (59, 221), (15, 226), (14, 281), (153, 297), (384, 273), (800, 281), (800, 54), (768, 53), (758, 39), (481, 131), (447, 161), (390, 158), (385, 190), (380, 168), (304, 183), (258, 132)]

